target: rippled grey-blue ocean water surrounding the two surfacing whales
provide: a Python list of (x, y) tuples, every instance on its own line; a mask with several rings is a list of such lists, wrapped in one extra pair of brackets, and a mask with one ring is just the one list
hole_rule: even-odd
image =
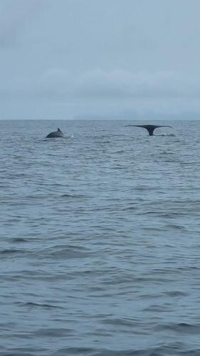
[(200, 122), (129, 123), (0, 121), (0, 355), (200, 355)]

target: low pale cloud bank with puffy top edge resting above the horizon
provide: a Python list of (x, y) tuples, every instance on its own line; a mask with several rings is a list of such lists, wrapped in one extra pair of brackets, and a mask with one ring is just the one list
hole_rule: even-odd
[(172, 71), (96, 69), (73, 73), (52, 68), (42, 75), (13, 78), (12, 85), (0, 83), (1, 103), (17, 100), (23, 111), (26, 105), (35, 105), (43, 115), (48, 112), (52, 117), (58, 112), (63, 118), (176, 117), (185, 112), (196, 115), (200, 112), (198, 78)]

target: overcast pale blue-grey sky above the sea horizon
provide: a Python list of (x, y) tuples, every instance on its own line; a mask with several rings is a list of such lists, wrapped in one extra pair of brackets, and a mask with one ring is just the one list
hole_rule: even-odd
[(0, 0), (0, 120), (200, 118), (199, 0)]

